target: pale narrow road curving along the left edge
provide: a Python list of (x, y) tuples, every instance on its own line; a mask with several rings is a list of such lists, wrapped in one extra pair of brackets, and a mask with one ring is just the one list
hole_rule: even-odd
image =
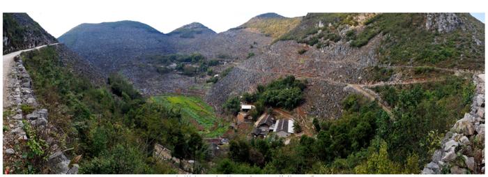
[[(57, 45), (58, 43), (54, 43), (52, 45)], [(22, 52), (27, 52), (33, 49), (40, 49), (42, 47), (45, 47), (47, 45), (41, 45), (38, 47), (34, 47), (31, 49), (23, 49), (17, 52), (12, 52), (10, 54), (3, 55), (3, 107), (9, 107), (9, 102), (7, 99), (7, 91), (8, 91), (8, 84), (9, 84), (9, 79), (10, 79), (10, 72), (12, 72), (13, 64), (15, 63), (13, 59), (15, 56), (21, 54)]]

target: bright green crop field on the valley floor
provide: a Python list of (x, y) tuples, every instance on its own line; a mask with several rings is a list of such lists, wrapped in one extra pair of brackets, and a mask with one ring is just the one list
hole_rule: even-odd
[(201, 98), (188, 95), (160, 95), (150, 98), (165, 107), (181, 111), (181, 116), (196, 125), (204, 137), (218, 137), (227, 131), (228, 123), (215, 116), (213, 107)]

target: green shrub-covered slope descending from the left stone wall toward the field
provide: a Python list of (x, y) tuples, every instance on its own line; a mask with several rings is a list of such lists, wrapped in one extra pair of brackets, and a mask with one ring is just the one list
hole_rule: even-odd
[[(54, 47), (27, 52), (22, 59), (38, 101), (49, 109), (49, 122), (59, 128), (54, 136), (61, 148), (83, 155), (81, 173), (174, 173), (170, 164), (152, 158), (156, 143), (178, 158), (208, 157), (201, 136), (178, 111), (146, 102), (123, 77), (112, 75), (106, 86), (94, 86), (63, 67)], [(36, 154), (38, 163), (20, 165), (43, 167), (49, 149), (36, 151), (45, 152)]]

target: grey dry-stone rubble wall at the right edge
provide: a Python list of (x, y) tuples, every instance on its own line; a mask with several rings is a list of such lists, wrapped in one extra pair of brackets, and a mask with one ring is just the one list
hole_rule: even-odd
[(422, 174), (485, 174), (485, 75), (473, 76), (471, 111), (445, 134)]

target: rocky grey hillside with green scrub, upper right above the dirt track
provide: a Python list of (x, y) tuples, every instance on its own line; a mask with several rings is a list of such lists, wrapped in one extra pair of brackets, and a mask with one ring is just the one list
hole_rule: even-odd
[[(337, 102), (348, 94), (342, 89), (347, 84), (425, 79), (415, 71), (422, 67), (437, 68), (438, 75), (484, 70), (484, 31), (468, 14), (310, 13), (282, 41), (234, 70), (247, 71), (239, 71), (242, 78), (271, 73), (315, 81), (305, 92), (307, 114), (337, 118), (342, 111)], [(261, 78), (234, 94), (273, 78)], [(206, 100), (219, 107), (231, 94), (227, 87), (240, 82), (222, 79)]]

